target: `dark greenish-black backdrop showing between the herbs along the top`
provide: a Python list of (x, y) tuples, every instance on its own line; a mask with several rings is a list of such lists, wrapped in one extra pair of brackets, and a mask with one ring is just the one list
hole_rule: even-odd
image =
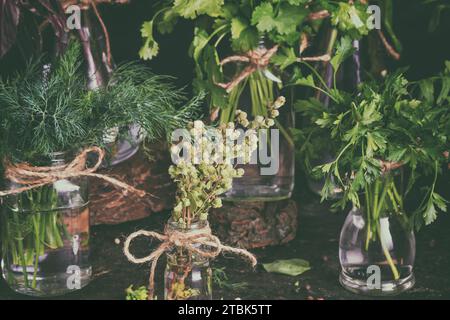
[[(442, 70), (450, 59), (450, 10), (444, 11), (441, 22), (434, 32), (428, 31), (433, 6), (423, 5), (423, 0), (394, 1), (394, 30), (403, 45), (399, 62), (388, 60), (390, 67), (409, 66), (411, 80), (430, 76)], [(150, 20), (155, 12), (155, 1), (131, 0), (129, 5), (102, 5), (101, 14), (109, 29), (112, 52), (116, 62), (139, 59), (142, 40), (140, 28), (143, 21)], [(179, 85), (192, 80), (192, 61), (188, 48), (192, 41), (192, 23), (180, 20), (170, 35), (159, 35), (158, 57), (147, 62), (154, 72), (170, 74), (178, 78)], [(21, 29), (22, 37), (30, 32)], [(17, 48), (0, 60), (0, 74), (7, 74), (20, 66), (24, 60)]]

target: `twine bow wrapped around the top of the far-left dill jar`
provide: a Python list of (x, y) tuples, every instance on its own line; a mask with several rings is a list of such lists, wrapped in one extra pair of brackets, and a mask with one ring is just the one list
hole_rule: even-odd
[[(96, 153), (98, 155), (97, 163), (92, 167), (87, 167), (87, 157), (90, 153)], [(36, 189), (45, 185), (52, 184), (58, 180), (77, 178), (77, 177), (94, 177), (105, 180), (110, 184), (122, 189), (124, 194), (132, 192), (139, 197), (146, 195), (145, 191), (138, 190), (122, 181), (114, 179), (110, 176), (95, 173), (100, 167), (105, 152), (99, 147), (91, 147), (83, 150), (75, 159), (67, 164), (52, 167), (35, 167), (28, 163), (12, 164), (11, 162), (5, 163), (5, 177), (23, 187), (15, 188), (6, 191), (0, 191), (0, 197), (19, 194), (24, 191)]]

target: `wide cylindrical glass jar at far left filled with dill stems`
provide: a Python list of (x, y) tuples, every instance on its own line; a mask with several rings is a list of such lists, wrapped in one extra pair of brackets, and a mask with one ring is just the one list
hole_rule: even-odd
[[(64, 153), (52, 155), (51, 166), (64, 164)], [(11, 289), (45, 297), (89, 283), (88, 204), (87, 178), (59, 180), (4, 199), (2, 275)]]

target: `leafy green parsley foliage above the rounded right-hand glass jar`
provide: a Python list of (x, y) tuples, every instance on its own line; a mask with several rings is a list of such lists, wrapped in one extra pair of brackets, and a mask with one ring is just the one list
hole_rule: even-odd
[[(436, 219), (437, 209), (446, 211), (446, 201), (435, 186), (442, 164), (448, 162), (445, 152), (450, 147), (449, 67), (447, 62), (443, 74), (418, 82), (408, 82), (400, 70), (381, 83), (363, 83), (355, 93), (320, 84), (332, 98), (330, 106), (316, 99), (298, 102), (298, 110), (311, 119), (311, 125), (298, 132), (307, 144), (301, 147), (304, 158), (320, 152), (312, 143), (316, 135), (322, 141), (328, 136), (328, 143), (334, 146), (333, 161), (313, 170), (326, 178), (323, 199), (337, 182), (344, 195), (336, 206), (343, 208), (351, 202), (361, 207), (361, 203), (371, 202), (364, 196), (376, 195), (379, 204), (374, 205), (372, 218), (378, 217), (383, 206), (405, 217), (404, 200), (414, 187), (424, 185), (420, 190), (424, 197), (415, 204), (407, 223), (419, 228)], [(304, 84), (316, 81), (321, 82), (311, 77)], [(401, 187), (391, 180), (381, 184), (389, 167), (396, 166), (401, 167)], [(422, 177), (430, 177), (431, 182), (424, 183)]]

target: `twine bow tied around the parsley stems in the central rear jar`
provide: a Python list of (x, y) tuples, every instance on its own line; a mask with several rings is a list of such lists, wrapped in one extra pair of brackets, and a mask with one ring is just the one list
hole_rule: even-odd
[(278, 45), (272, 47), (271, 49), (257, 48), (255, 50), (250, 50), (244, 55), (230, 56), (222, 61), (220, 65), (223, 66), (230, 62), (246, 62), (249, 65), (242, 70), (233, 80), (227, 83), (217, 83), (221, 88), (224, 88), (227, 92), (233, 90), (242, 80), (250, 76), (253, 72), (258, 69), (264, 69), (269, 65), (270, 59), (278, 51)]

